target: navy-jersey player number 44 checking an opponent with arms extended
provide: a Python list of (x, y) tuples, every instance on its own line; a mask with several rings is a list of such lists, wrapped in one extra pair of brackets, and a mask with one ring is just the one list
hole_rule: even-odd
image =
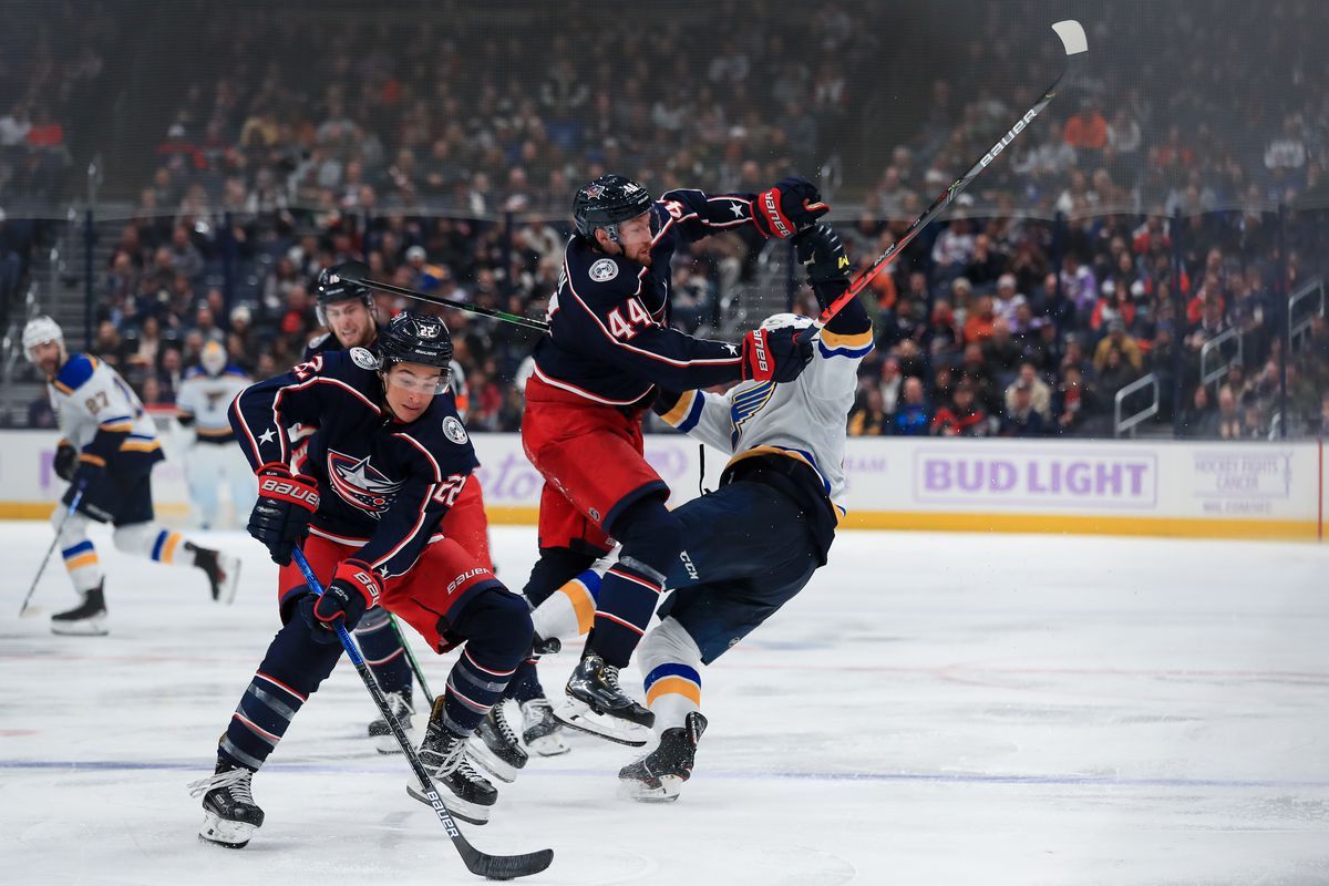
[(586, 654), (556, 712), (567, 725), (641, 744), (654, 719), (623, 695), (618, 668), (688, 542), (664, 506), (668, 487), (642, 456), (642, 413), (655, 387), (791, 383), (812, 355), (805, 329), (754, 329), (738, 345), (668, 328), (675, 248), (742, 224), (788, 236), (825, 211), (803, 179), (784, 179), (756, 198), (675, 190), (655, 201), (621, 175), (577, 193), (577, 232), (563, 252), (550, 331), (536, 347), (521, 426), (526, 456), (545, 478), (541, 559), (528, 583), (533, 602), (609, 550), (610, 538), (622, 545), (599, 591)]

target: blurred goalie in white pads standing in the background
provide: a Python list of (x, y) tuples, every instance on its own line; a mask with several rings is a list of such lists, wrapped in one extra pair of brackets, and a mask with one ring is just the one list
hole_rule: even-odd
[(231, 400), (250, 387), (253, 380), (230, 363), (226, 348), (209, 341), (199, 355), (202, 365), (185, 373), (175, 399), (175, 418), (193, 429), (194, 441), (185, 461), (189, 497), (198, 509), (202, 529), (217, 527), (218, 490), (226, 482), (231, 490), (231, 510), (239, 521), (247, 519), (258, 498), (258, 484), (245, 456), (235, 446), (235, 433), (226, 417)]

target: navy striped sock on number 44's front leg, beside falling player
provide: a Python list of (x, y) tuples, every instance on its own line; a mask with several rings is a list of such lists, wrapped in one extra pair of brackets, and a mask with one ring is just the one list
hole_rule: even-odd
[(661, 498), (643, 498), (614, 521), (623, 543), (599, 586), (599, 608), (587, 652), (606, 664), (625, 667), (646, 632), (664, 590), (664, 571), (683, 547), (683, 523)]

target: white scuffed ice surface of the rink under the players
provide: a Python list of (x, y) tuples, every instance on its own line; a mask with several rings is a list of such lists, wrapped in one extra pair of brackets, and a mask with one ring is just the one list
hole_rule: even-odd
[[(361, 737), (348, 665), (255, 778), (250, 846), (195, 838), (185, 784), (276, 628), (255, 542), (213, 537), (246, 558), (223, 608), (198, 573), (94, 535), (112, 634), (57, 638), (15, 618), (49, 527), (0, 527), (0, 882), (474, 881), (403, 760)], [(520, 587), (534, 531), (493, 542)], [(711, 727), (676, 804), (619, 800), (637, 752), (575, 737), (466, 833), (552, 846), (529, 883), (1325, 883), (1326, 567), (1312, 545), (845, 533), (703, 675)], [(54, 563), (37, 603), (72, 600)], [(573, 662), (546, 659), (546, 688)], [(449, 664), (425, 663), (435, 687)]]

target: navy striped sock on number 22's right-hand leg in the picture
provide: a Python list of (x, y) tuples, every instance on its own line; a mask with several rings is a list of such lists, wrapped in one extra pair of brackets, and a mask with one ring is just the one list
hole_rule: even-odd
[(486, 590), (466, 603), (451, 632), (464, 636), (466, 644), (448, 672), (443, 725), (453, 735), (469, 736), (502, 699), (517, 665), (530, 652), (530, 612), (516, 594)]

